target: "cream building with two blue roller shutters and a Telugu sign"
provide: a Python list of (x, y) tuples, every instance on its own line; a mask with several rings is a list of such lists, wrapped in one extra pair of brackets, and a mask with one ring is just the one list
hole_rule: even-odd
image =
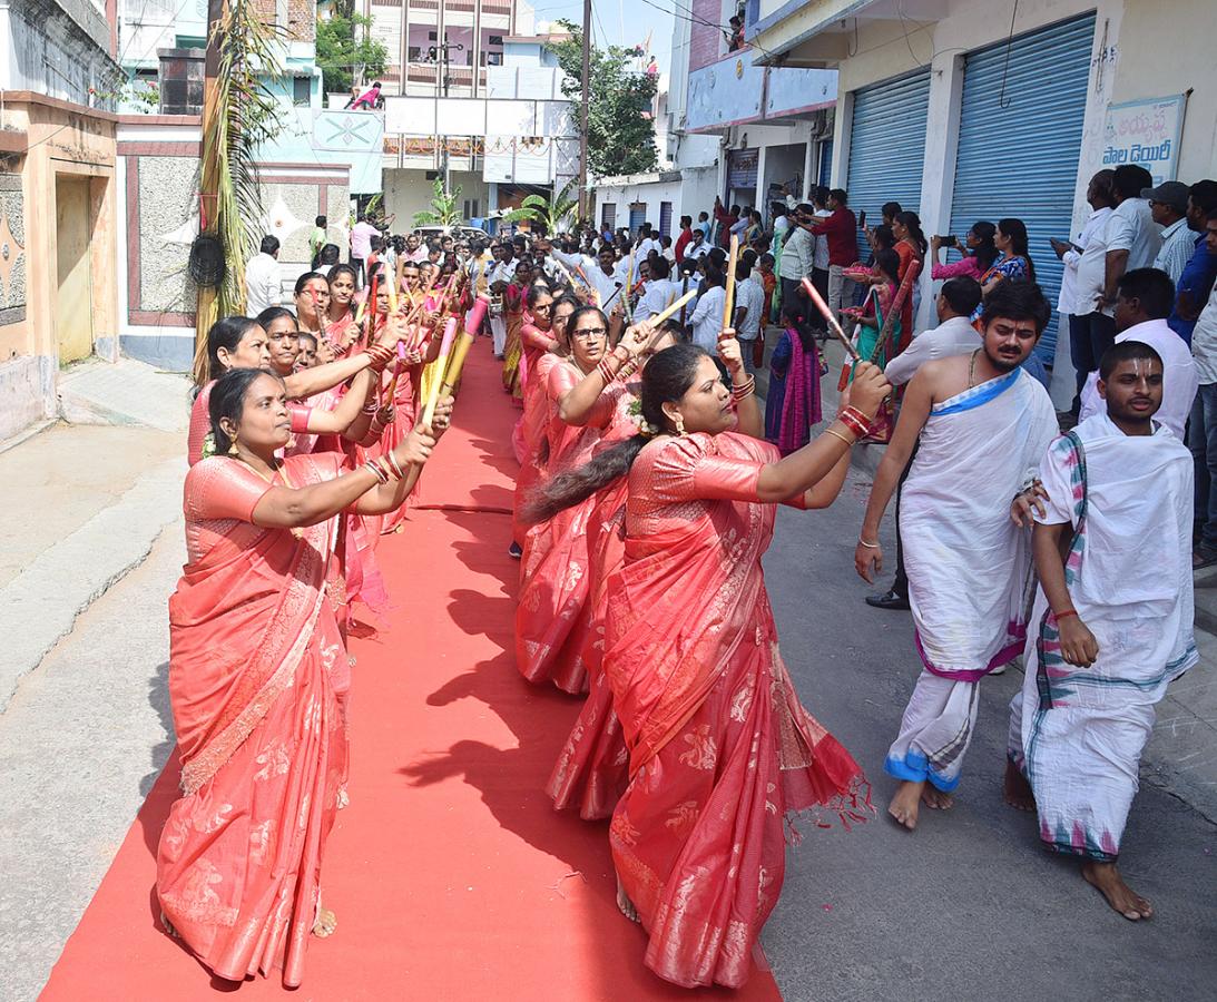
[(856, 211), (897, 200), (926, 234), (1020, 218), (1055, 302), (1049, 239), (1079, 230), (1095, 170), (1217, 173), (1217, 69), (1195, 30), (1211, 13), (1204, 0), (1041, 0), (1011, 23), (996, 0), (751, 0), (747, 37), (765, 63), (839, 72), (831, 177)]

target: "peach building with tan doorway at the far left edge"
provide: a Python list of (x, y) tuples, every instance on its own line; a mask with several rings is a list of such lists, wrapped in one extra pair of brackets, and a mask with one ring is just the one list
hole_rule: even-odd
[(117, 357), (114, 45), (101, 2), (0, 0), (0, 441)]

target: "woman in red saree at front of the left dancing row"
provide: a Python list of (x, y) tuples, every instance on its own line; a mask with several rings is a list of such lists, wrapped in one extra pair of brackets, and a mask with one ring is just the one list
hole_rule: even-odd
[[(220, 978), (282, 967), (333, 931), (320, 869), (341, 796), (347, 659), (329, 589), (343, 511), (400, 503), (434, 444), (343, 472), (335, 453), (275, 458), (282, 381), (234, 370), (212, 392), (219, 454), (186, 476), (187, 560), (169, 600), (169, 698), (184, 796), (157, 850), (167, 929)], [(450, 402), (437, 412), (447, 427)]]

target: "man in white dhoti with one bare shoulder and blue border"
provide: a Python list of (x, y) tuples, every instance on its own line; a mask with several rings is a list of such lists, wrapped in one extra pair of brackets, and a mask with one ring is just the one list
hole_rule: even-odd
[(1039, 286), (1000, 282), (985, 302), (981, 347), (935, 359), (908, 384), (854, 552), (868, 582), (882, 570), (879, 524), (918, 447), (901, 496), (901, 543), (924, 670), (885, 768), (899, 787), (888, 813), (916, 827), (919, 804), (949, 807), (976, 724), (976, 683), (1022, 650), (1031, 599), (1030, 532), (1010, 500), (1058, 432), (1044, 387), (1019, 368), (1048, 323)]

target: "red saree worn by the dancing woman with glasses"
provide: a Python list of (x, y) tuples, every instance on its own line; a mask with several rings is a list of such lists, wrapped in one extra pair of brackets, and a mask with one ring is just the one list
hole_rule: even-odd
[[(548, 475), (574, 469), (591, 459), (602, 420), (584, 427), (559, 416), (559, 399), (583, 374), (572, 362), (549, 371), (545, 384), (549, 448)], [(619, 387), (621, 384), (616, 384)], [(601, 394), (611, 407), (612, 387)], [(559, 511), (528, 528), (523, 553), (520, 605), (516, 609), (516, 666), (529, 682), (553, 682), (566, 693), (587, 692), (583, 648), (590, 627), (588, 615), (588, 525), (596, 496)]]

